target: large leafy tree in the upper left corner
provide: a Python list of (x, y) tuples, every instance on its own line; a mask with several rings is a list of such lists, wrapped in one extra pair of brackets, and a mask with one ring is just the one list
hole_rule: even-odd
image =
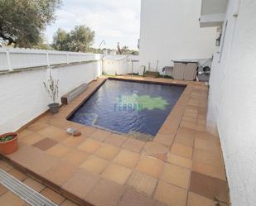
[(0, 41), (20, 47), (35, 46), (41, 31), (55, 20), (61, 0), (0, 0)]

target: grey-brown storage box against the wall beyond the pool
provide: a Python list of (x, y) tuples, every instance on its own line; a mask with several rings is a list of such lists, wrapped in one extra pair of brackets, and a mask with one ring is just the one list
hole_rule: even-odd
[(193, 81), (196, 79), (197, 61), (174, 60), (173, 79)]

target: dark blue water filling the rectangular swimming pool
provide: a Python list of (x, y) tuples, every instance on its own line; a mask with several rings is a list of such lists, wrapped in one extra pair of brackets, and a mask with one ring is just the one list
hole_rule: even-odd
[(184, 86), (108, 79), (69, 120), (113, 132), (155, 136)]

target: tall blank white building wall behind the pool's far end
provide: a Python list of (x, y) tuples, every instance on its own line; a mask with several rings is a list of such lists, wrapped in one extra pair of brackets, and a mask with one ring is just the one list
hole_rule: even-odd
[(171, 60), (208, 59), (215, 53), (215, 28), (200, 28), (200, 0), (142, 0), (140, 65), (152, 70)]

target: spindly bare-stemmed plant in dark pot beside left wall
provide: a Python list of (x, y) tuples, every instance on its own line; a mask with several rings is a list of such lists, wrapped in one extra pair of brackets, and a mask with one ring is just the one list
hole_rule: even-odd
[(50, 76), (47, 82), (44, 82), (45, 88), (47, 93), (49, 93), (49, 96), (52, 100), (52, 103), (50, 103), (48, 106), (51, 110), (51, 113), (58, 113), (60, 108), (60, 103), (57, 103), (59, 97), (59, 80), (53, 79), (51, 75), (50, 70)]

